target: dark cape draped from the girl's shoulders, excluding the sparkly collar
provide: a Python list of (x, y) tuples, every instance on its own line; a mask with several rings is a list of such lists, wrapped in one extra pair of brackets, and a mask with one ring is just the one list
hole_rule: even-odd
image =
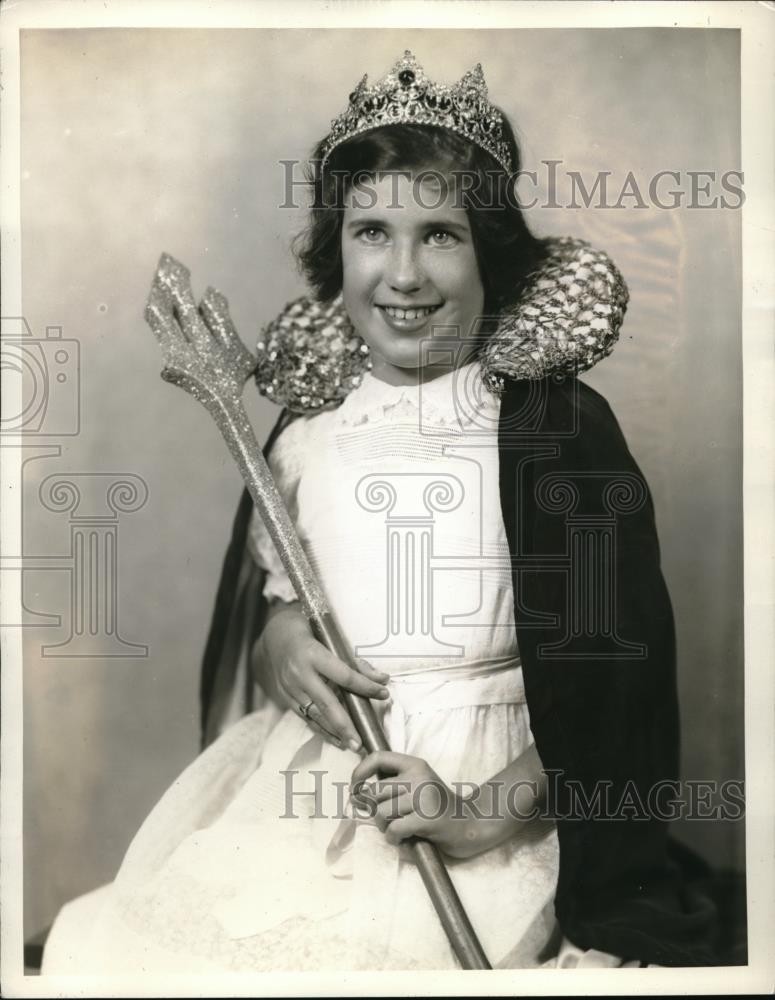
[[(267, 452), (290, 419), (281, 415)], [(648, 486), (608, 403), (574, 377), (507, 382), (499, 455), (517, 641), (559, 836), (560, 927), (580, 948), (718, 964), (716, 909), (660, 818), (669, 788), (653, 805), (655, 786), (678, 777), (679, 716)], [(224, 705), (252, 707), (245, 662), (264, 602), (246, 547), (251, 510), (245, 490), (203, 662), (205, 743), (225, 724)]]

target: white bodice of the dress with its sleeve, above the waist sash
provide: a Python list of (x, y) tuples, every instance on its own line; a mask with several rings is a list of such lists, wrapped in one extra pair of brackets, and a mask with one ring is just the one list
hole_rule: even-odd
[[(344, 632), (390, 673), (517, 655), (498, 492), (500, 401), (471, 362), (421, 386), (368, 374), (301, 417), (270, 466)], [(264, 593), (295, 595), (254, 512)]]

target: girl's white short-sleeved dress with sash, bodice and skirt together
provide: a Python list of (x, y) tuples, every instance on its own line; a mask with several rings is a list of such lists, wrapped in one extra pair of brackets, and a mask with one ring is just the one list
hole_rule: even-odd
[[(292, 423), (271, 458), (345, 635), (390, 674), (374, 705), (391, 747), (449, 784), (486, 781), (532, 742), (499, 402), (478, 374), (367, 375), (337, 410)], [(292, 600), (255, 517), (250, 546), (265, 593)], [(63, 909), (44, 974), (457, 968), (406, 849), (353, 814), (358, 760), (271, 703), (232, 725), (165, 793), (115, 881)], [(558, 862), (547, 820), (449, 861), (493, 967), (637, 965), (561, 939)]]

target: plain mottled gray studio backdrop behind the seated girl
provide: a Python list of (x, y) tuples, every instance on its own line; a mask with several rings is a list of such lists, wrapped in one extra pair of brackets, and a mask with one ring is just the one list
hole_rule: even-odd
[[(197, 294), (220, 288), (252, 344), (303, 289), (289, 252), (303, 213), (278, 207), (280, 161), (306, 155), (359, 77), (407, 47), (449, 82), (483, 63), (535, 190), (551, 193), (542, 161), (562, 161), (559, 206), (568, 170), (611, 171), (615, 201), (630, 170), (644, 189), (680, 171), (689, 191), (685, 171), (739, 169), (733, 31), (23, 33), (20, 336), (49, 375), (24, 467), (28, 933), (112, 877), (197, 752), (199, 664), (241, 480), (205, 411), (159, 378), (142, 318), (159, 254), (188, 265)], [(644, 201), (529, 217), (606, 248), (628, 280), (621, 341), (584, 378), (654, 494), (684, 775), (742, 778), (740, 212)], [(248, 395), (264, 437), (276, 409)], [(677, 831), (743, 866), (742, 823)]]

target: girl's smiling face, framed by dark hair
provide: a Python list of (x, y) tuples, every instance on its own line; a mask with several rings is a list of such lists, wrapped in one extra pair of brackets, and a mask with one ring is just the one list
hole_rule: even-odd
[[(450, 189), (381, 175), (350, 191), (342, 221), (342, 294), (356, 331), (369, 345), (374, 375), (413, 384), (459, 367), (427, 364), (421, 350), (434, 327), (467, 341), (484, 309), (471, 227)], [(452, 328), (450, 331), (449, 328)], [(447, 341), (448, 344), (448, 341)]]

